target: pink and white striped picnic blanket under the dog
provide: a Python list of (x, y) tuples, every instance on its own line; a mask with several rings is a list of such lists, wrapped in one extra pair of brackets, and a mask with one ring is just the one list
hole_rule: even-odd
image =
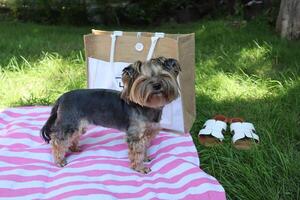
[(199, 168), (192, 138), (160, 133), (149, 148), (152, 172), (129, 168), (125, 133), (99, 126), (82, 136), (82, 152), (54, 165), (39, 131), (51, 107), (0, 112), (0, 199), (225, 199), (219, 182)]

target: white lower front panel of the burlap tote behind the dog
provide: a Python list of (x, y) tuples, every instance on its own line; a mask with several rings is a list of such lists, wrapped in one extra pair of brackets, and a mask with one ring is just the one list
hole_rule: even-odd
[[(88, 58), (89, 88), (103, 88), (121, 91), (122, 70), (131, 63), (110, 62)], [(184, 120), (181, 97), (166, 105), (163, 109), (161, 125), (164, 128), (184, 132)]]

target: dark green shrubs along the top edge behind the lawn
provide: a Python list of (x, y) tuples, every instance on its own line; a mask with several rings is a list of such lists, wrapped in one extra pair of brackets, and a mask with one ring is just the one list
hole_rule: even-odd
[[(0, 12), (3, 7), (9, 8), (16, 19), (46, 24), (157, 25), (170, 21), (185, 23), (216, 14), (234, 14), (250, 19), (263, 12), (261, 5), (260, 8), (246, 7), (248, 1), (0, 0)], [(276, 20), (279, 2), (264, 0), (264, 12), (272, 24)]]

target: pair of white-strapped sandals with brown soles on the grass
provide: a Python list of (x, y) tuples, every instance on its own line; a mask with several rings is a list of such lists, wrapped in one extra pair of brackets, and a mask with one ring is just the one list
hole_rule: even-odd
[(235, 148), (247, 150), (259, 143), (253, 124), (241, 118), (227, 118), (223, 115), (216, 115), (205, 122), (198, 135), (199, 142), (204, 146), (222, 144), (227, 123), (230, 124), (232, 144)]

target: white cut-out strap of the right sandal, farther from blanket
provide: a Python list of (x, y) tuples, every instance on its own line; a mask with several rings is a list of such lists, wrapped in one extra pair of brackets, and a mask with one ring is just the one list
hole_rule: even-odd
[(230, 132), (234, 132), (232, 136), (232, 142), (244, 138), (254, 139), (259, 141), (259, 136), (255, 133), (255, 128), (252, 123), (249, 122), (233, 122), (230, 124)]

